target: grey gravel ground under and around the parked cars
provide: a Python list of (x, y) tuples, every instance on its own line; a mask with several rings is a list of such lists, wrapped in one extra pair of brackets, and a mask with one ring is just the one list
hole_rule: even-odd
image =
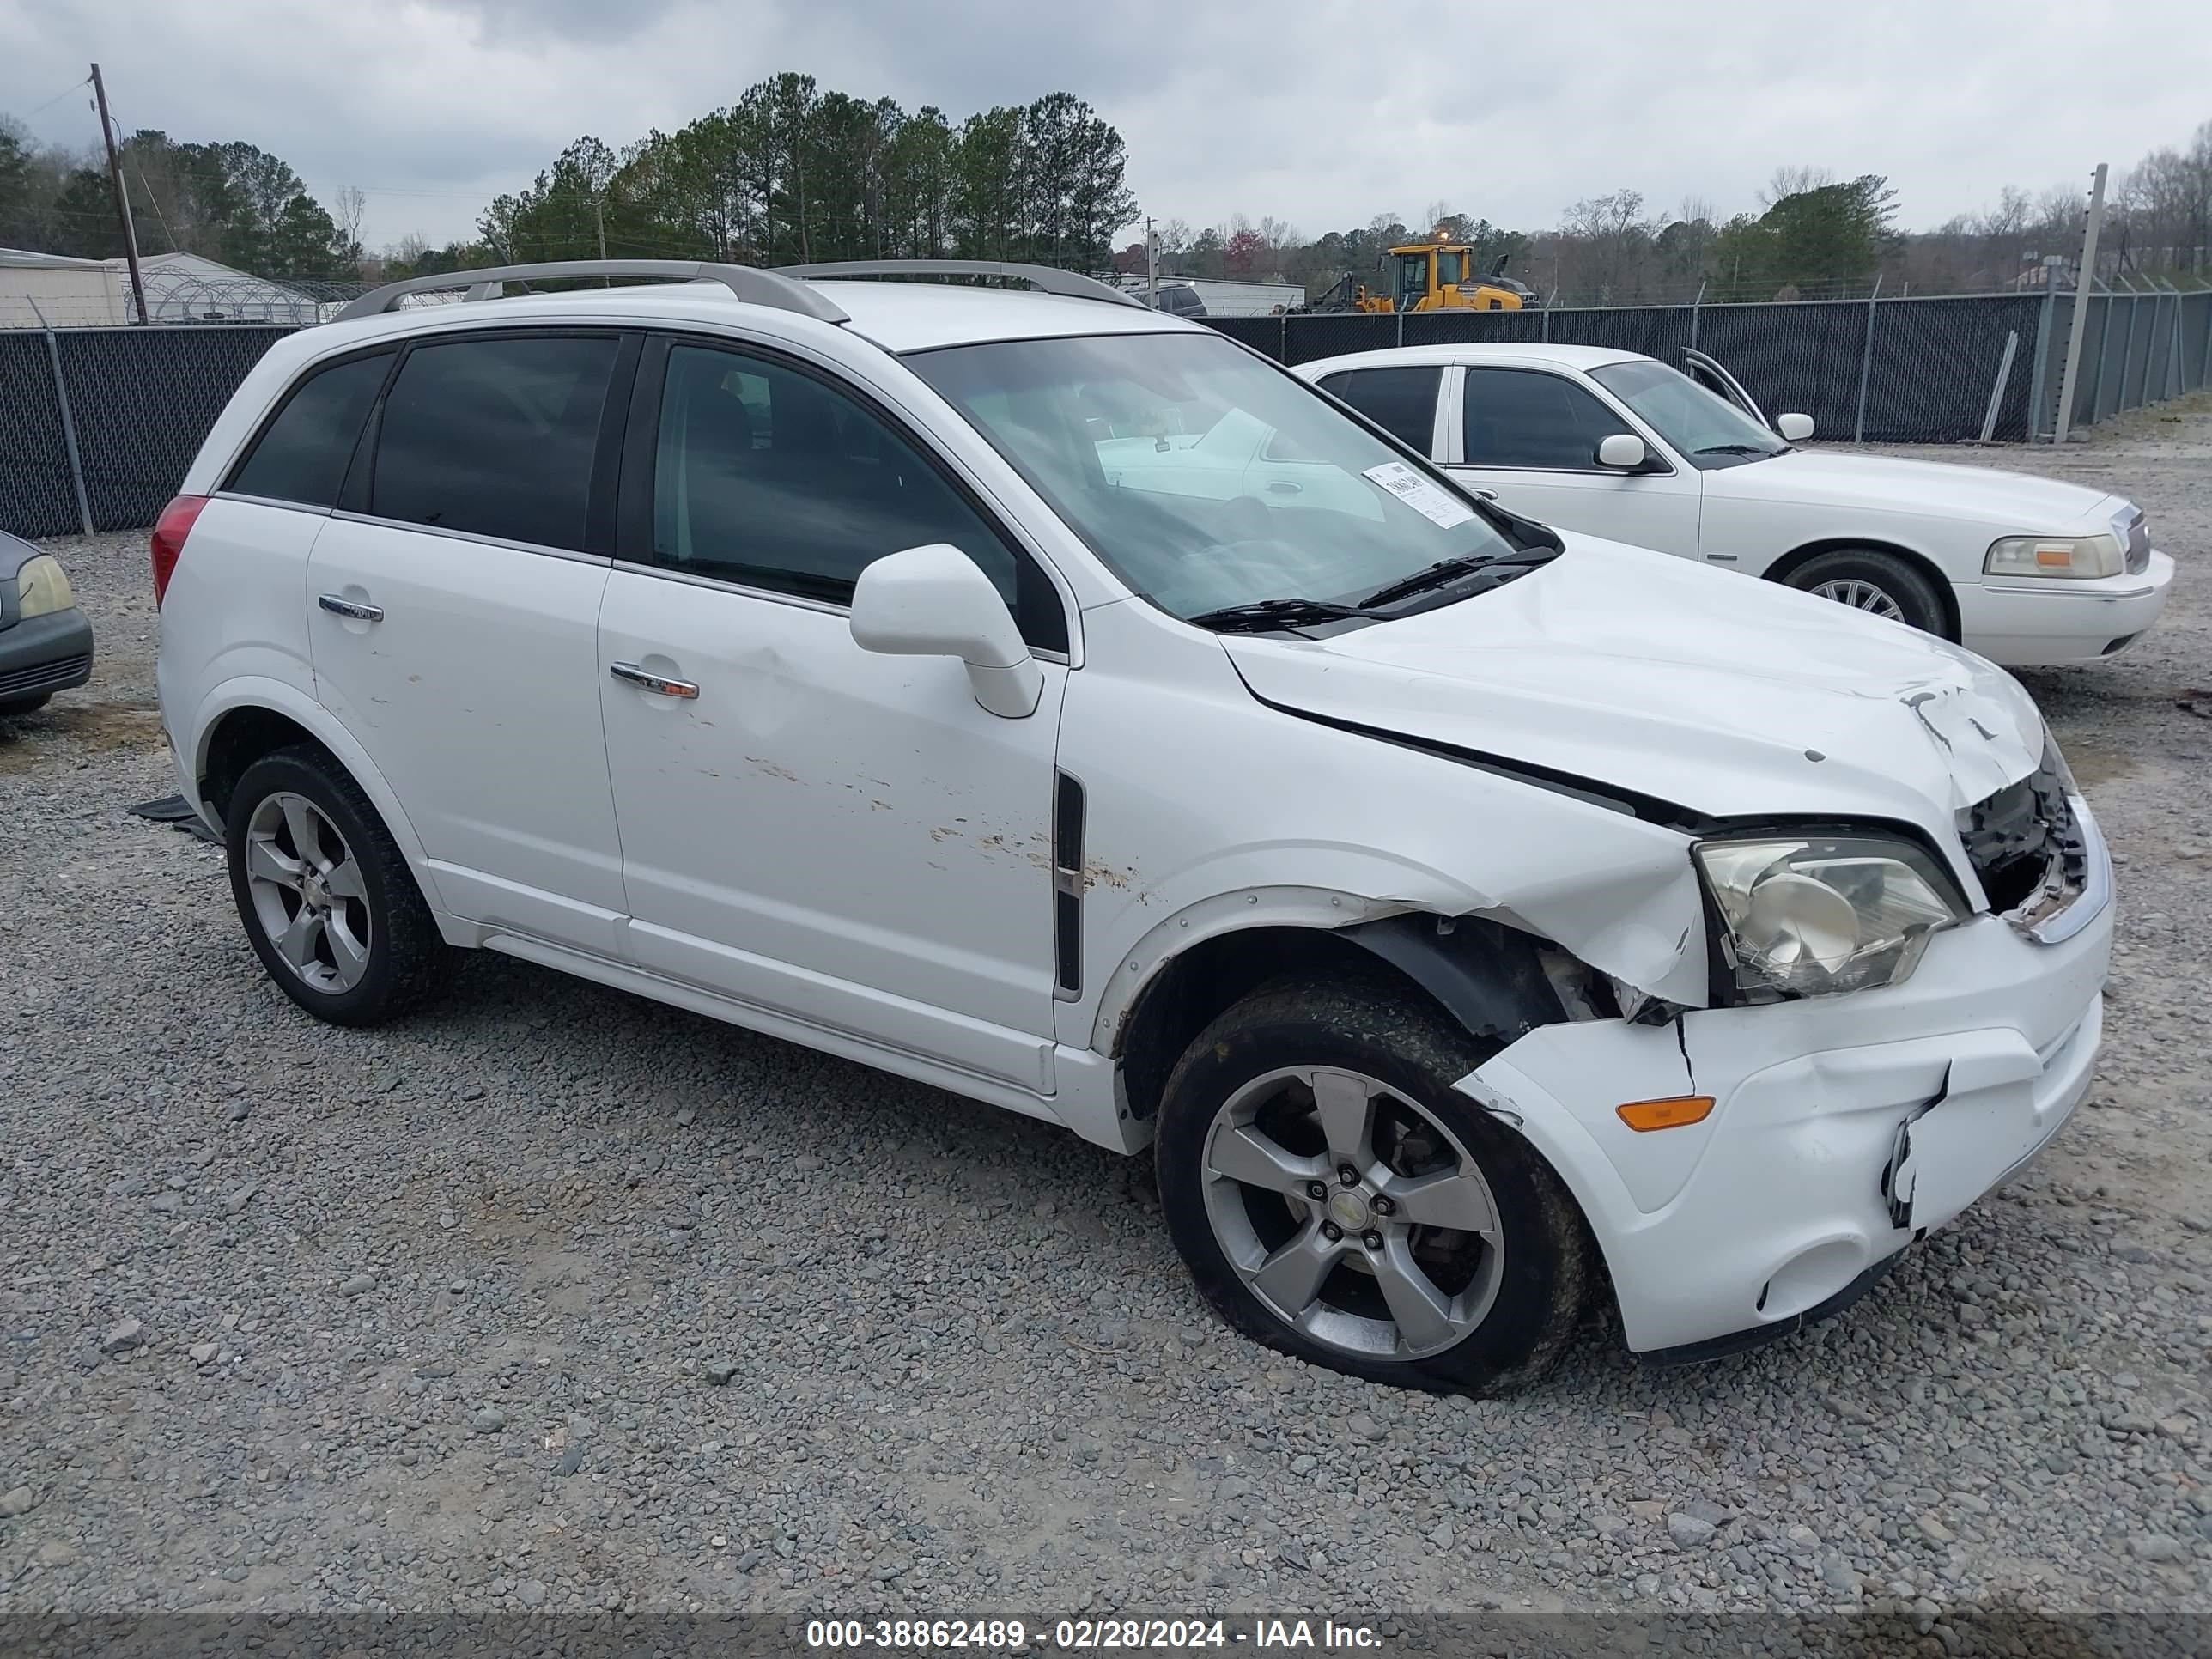
[[(1924, 451), (1938, 453), (1938, 451)], [(2062, 456), (2181, 557), (2031, 679), (2124, 860), (2090, 1108), (1840, 1321), (1440, 1400), (1219, 1329), (1150, 1166), (482, 958), (296, 1013), (173, 779), (144, 538), (0, 721), (0, 1610), (2212, 1610), (2212, 409)]]

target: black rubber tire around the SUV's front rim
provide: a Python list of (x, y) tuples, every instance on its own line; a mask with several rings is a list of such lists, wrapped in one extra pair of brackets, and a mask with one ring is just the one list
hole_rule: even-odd
[[(1544, 1376), (1573, 1340), (1595, 1285), (1595, 1245), (1573, 1197), (1542, 1155), (1453, 1091), (1491, 1053), (1495, 1044), (1478, 1042), (1402, 991), (1334, 980), (1263, 987), (1201, 1031), (1168, 1077), (1152, 1157), (1168, 1232), (1214, 1312), (1267, 1347), (1374, 1383), (1506, 1394)], [(1480, 1168), (1495, 1201), (1502, 1261), (1493, 1279), (1495, 1296), (1455, 1345), (1389, 1358), (1316, 1340), (1267, 1307), (1232, 1265), (1208, 1210), (1208, 1188), (1219, 1186), (1208, 1177), (1214, 1121), (1254, 1079), (1290, 1066), (1356, 1071), (1383, 1084), (1385, 1110), (1398, 1113), (1411, 1102), (1449, 1130)], [(1336, 1181), (1327, 1186), (1334, 1197)], [(1256, 1188), (1241, 1192), (1254, 1192), (1261, 1212), (1276, 1201)], [(1294, 1203), (1285, 1201), (1285, 1210)], [(1334, 1210), (1316, 1206), (1307, 1221), (1281, 1225), (1303, 1232), (1327, 1214)], [(1352, 1270), (1329, 1270), (1323, 1301), (1332, 1285), (1345, 1285), (1352, 1296), (1380, 1296), (1380, 1285), (1367, 1292), (1338, 1276)], [(1402, 1332), (1398, 1343), (1402, 1347)]]

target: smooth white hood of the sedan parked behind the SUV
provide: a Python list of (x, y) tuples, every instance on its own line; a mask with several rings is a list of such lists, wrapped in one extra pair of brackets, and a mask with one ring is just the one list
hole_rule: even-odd
[(2055, 478), (1827, 449), (1792, 449), (1747, 467), (1714, 469), (1705, 473), (1705, 493), (1953, 518), (1989, 524), (1993, 535), (2104, 529), (2119, 511), (2117, 498)]

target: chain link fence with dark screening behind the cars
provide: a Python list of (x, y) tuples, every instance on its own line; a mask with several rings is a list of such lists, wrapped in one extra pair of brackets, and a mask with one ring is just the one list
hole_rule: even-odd
[[(1767, 416), (1818, 438), (2048, 440), (2073, 294), (1944, 294), (1750, 305), (1593, 305), (1398, 316), (1225, 316), (1279, 363), (1462, 341), (1551, 341), (1723, 363)], [(2090, 294), (2073, 427), (2212, 385), (2212, 290)], [(257, 323), (0, 330), (0, 529), (144, 529), (208, 427), (292, 330)]]

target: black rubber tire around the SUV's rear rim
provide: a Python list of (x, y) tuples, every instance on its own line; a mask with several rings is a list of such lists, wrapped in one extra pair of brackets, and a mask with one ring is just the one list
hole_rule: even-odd
[[(279, 951), (263, 922), (248, 878), (248, 838), (257, 814), (276, 796), (303, 796), (345, 841), (345, 852), (358, 867), (358, 900), (336, 900), (352, 911), (349, 938), (365, 936), (365, 967), (358, 980), (343, 989), (310, 984)], [(276, 987), (316, 1020), (338, 1026), (374, 1026), (396, 1020), (440, 993), (460, 967), (465, 951), (447, 945), (438, 922), (422, 902), (414, 872), (385, 830), (369, 796), (330, 752), (296, 745), (265, 754), (246, 768), (223, 814), (223, 845), (230, 860), (230, 896), (237, 900), (246, 938)], [(296, 847), (296, 838), (292, 841)], [(279, 847), (281, 849), (281, 847)], [(279, 902), (281, 896), (274, 896)], [(296, 916), (296, 909), (292, 909)], [(327, 953), (327, 942), (319, 947)]]

